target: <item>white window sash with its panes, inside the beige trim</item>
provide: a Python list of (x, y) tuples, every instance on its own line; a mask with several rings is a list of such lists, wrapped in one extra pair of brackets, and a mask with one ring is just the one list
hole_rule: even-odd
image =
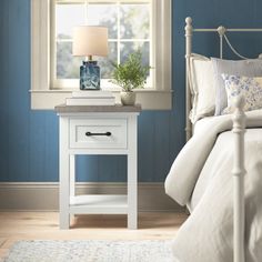
[[(101, 68), (102, 88), (112, 87), (112, 62), (123, 62), (140, 50), (144, 66), (153, 66), (151, 0), (56, 0), (52, 13), (51, 61), (56, 88), (78, 88), (79, 67), (84, 58), (72, 57), (72, 29), (75, 26), (104, 26), (109, 29), (109, 54), (95, 57)], [(99, 39), (98, 39), (99, 41)], [(147, 87), (152, 88), (153, 70)]]

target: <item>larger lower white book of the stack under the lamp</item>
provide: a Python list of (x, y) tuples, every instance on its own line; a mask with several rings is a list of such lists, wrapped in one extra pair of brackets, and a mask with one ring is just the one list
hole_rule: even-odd
[(113, 98), (68, 98), (67, 105), (114, 105), (115, 99)]

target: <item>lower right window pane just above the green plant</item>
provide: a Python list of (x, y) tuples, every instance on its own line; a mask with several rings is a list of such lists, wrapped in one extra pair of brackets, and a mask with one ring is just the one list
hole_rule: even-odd
[(149, 42), (122, 42), (120, 46), (120, 61), (124, 62), (128, 56), (140, 50), (142, 52), (142, 64), (149, 64)]

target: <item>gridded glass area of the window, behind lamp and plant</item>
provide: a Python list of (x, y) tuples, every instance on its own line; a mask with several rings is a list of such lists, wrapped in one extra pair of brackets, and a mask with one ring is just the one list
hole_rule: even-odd
[[(101, 79), (111, 79), (112, 62), (123, 62), (127, 57), (140, 49), (142, 63), (150, 63), (150, 42), (135, 41), (150, 37), (150, 4), (148, 3), (57, 3), (57, 79), (79, 79), (79, 67), (84, 58), (72, 56), (72, 29), (79, 24), (104, 26), (109, 29), (109, 54), (94, 57), (101, 69)], [(85, 17), (87, 16), (87, 17)], [(119, 16), (119, 18), (118, 18)], [(120, 28), (118, 29), (118, 19)], [(118, 31), (120, 30), (120, 31)], [(118, 44), (120, 33), (120, 46)], [(129, 39), (127, 42), (121, 39)], [(64, 41), (66, 40), (66, 41)], [(130, 41), (131, 40), (131, 41)], [(120, 49), (120, 50), (118, 50)], [(120, 53), (120, 58), (118, 54)]]

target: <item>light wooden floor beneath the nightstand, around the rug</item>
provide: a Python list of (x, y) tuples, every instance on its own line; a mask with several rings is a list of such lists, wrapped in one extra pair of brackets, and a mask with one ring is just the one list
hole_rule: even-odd
[(127, 229), (127, 215), (78, 215), (70, 230), (59, 230), (57, 212), (0, 212), (0, 258), (19, 240), (172, 239), (184, 213), (140, 213), (139, 230)]

